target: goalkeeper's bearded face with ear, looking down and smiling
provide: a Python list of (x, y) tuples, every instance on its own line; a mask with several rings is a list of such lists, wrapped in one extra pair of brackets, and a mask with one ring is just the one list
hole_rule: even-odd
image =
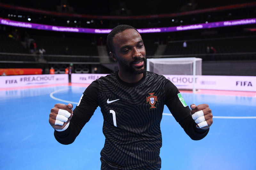
[(136, 30), (127, 29), (116, 34), (113, 43), (115, 53), (110, 55), (118, 62), (119, 71), (141, 74), (146, 70), (146, 49)]

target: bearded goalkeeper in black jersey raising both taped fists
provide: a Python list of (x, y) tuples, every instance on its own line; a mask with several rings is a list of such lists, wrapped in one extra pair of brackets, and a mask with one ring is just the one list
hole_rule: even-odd
[(100, 152), (101, 169), (160, 169), (164, 105), (193, 140), (207, 135), (211, 110), (206, 104), (193, 104), (190, 111), (168, 79), (146, 71), (146, 50), (140, 33), (132, 26), (115, 27), (107, 42), (119, 70), (92, 82), (74, 112), (71, 104), (52, 108), (49, 122), (54, 136), (61, 144), (71, 144), (100, 106), (106, 137)]

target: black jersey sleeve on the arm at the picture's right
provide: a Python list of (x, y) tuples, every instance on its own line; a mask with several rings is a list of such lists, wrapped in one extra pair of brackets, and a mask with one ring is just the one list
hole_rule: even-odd
[(181, 103), (178, 93), (180, 93), (175, 85), (168, 79), (165, 79), (164, 91), (166, 95), (165, 105), (169, 108), (173, 117), (188, 136), (193, 140), (203, 139), (209, 132), (209, 129), (196, 128), (196, 122), (190, 115), (190, 109), (188, 106), (184, 107)]

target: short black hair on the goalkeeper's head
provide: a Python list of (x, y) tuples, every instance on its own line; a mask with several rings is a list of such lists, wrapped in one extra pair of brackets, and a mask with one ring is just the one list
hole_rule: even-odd
[(128, 25), (116, 26), (115, 28), (113, 28), (112, 31), (110, 31), (110, 33), (108, 34), (108, 37), (107, 37), (107, 44), (108, 44), (108, 48), (109, 48), (110, 52), (115, 53), (115, 46), (113, 43), (113, 38), (116, 36), (116, 34), (122, 33), (124, 30), (127, 30), (127, 29), (135, 29), (139, 33), (139, 31), (132, 26), (128, 26)]

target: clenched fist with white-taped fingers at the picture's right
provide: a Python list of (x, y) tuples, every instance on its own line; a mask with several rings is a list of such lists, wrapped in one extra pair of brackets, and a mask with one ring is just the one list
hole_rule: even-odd
[(212, 110), (207, 104), (190, 105), (192, 109), (190, 115), (196, 122), (196, 127), (201, 129), (208, 129), (212, 125)]

